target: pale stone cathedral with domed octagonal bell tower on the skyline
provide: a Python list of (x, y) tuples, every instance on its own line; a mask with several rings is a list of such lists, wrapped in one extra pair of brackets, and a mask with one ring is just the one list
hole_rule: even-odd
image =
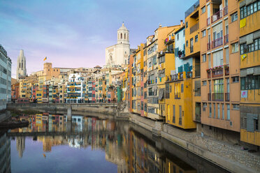
[(123, 23), (120, 29), (117, 29), (117, 44), (106, 47), (106, 66), (122, 66), (127, 64), (129, 54), (129, 31)]

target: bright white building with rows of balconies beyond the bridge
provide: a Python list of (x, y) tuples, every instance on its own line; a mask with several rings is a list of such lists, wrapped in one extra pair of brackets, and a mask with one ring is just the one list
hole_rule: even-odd
[(68, 76), (67, 103), (84, 103), (86, 84), (81, 73), (73, 73)]

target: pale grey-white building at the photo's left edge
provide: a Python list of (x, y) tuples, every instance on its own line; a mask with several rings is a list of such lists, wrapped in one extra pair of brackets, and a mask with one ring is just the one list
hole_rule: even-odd
[(5, 110), (11, 100), (11, 66), (12, 61), (0, 45), (0, 110)]

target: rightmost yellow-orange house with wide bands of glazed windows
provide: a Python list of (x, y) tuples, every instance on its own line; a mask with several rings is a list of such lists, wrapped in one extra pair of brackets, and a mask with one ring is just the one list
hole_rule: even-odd
[[(234, 13), (236, 15), (232, 15), (231, 19), (238, 20), (237, 25), (240, 27), (241, 94), (236, 94), (241, 100), (240, 106), (232, 104), (230, 109), (240, 109), (240, 140), (260, 146), (260, 1), (244, 0), (238, 3), (238, 12)], [(238, 52), (238, 43), (234, 49)], [(239, 77), (233, 78), (232, 82), (239, 84)], [(236, 118), (239, 119), (237, 116)]]

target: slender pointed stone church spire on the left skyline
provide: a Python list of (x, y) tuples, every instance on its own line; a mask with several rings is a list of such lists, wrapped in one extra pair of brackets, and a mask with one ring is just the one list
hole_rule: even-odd
[(24, 50), (20, 50), (19, 57), (17, 58), (17, 68), (16, 68), (16, 79), (26, 77), (26, 59), (24, 57)]

